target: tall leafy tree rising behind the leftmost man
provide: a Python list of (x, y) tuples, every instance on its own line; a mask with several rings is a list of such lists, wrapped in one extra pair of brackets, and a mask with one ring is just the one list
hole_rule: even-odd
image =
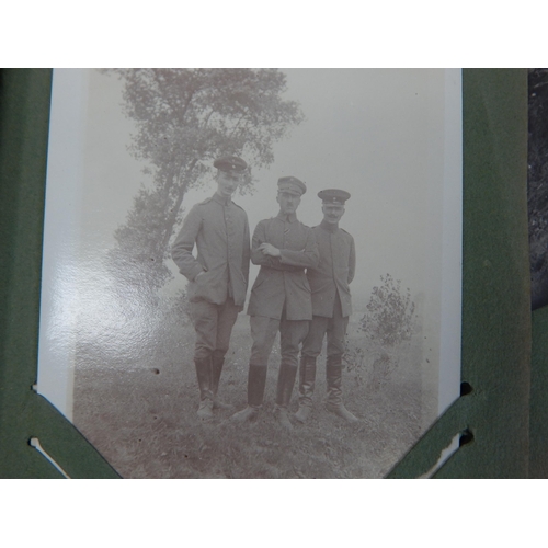
[[(213, 160), (237, 155), (253, 167), (266, 167), (274, 160), (274, 142), (304, 115), (296, 102), (282, 99), (286, 78), (277, 69), (102, 72), (124, 82), (124, 113), (137, 125), (130, 152), (147, 162), (153, 181), (151, 189), (139, 191), (116, 230), (111, 258), (126, 283), (155, 294), (171, 276), (164, 260), (182, 220), (184, 196), (212, 174)], [(248, 173), (241, 192), (252, 186)]]

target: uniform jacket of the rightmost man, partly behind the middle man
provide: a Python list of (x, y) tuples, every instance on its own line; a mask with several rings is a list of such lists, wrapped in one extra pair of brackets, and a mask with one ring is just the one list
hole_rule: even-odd
[(332, 318), (335, 296), (339, 294), (342, 315), (350, 316), (352, 302), (349, 284), (354, 278), (356, 267), (354, 238), (324, 221), (312, 230), (320, 251), (318, 265), (307, 271), (312, 290), (312, 313)]

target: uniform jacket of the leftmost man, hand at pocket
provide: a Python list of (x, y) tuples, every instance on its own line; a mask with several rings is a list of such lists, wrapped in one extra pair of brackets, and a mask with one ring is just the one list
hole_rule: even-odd
[[(192, 251), (196, 246), (197, 258)], [(222, 305), (232, 297), (243, 307), (249, 277), (249, 225), (246, 212), (218, 194), (195, 205), (171, 249), (171, 256), (186, 276), (190, 300), (203, 298)], [(196, 282), (196, 275), (205, 272)]]

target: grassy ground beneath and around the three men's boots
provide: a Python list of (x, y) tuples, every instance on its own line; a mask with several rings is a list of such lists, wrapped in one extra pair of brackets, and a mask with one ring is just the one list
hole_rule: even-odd
[[(355, 328), (349, 332), (352, 344), (364, 344)], [(365, 359), (343, 372), (345, 404), (362, 419), (355, 425), (324, 410), (320, 356), (313, 413), (293, 432), (272, 413), (277, 343), (263, 411), (242, 425), (229, 420), (233, 411), (216, 411), (209, 423), (197, 419), (192, 328), (165, 326), (157, 340), (156, 353), (132, 363), (103, 365), (100, 349), (90, 345), (77, 352), (75, 424), (124, 478), (380, 478), (434, 420), (416, 339), (400, 349), (397, 367), (378, 372)], [(237, 410), (246, 406), (250, 343), (249, 317), (241, 313), (219, 389)]]

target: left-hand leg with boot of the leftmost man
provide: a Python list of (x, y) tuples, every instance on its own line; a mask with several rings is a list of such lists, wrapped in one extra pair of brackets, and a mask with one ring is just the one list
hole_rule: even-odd
[(194, 364), (199, 387), (201, 419), (213, 418), (212, 356), (217, 339), (217, 305), (199, 299), (191, 302), (191, 317), (196, 332)]

